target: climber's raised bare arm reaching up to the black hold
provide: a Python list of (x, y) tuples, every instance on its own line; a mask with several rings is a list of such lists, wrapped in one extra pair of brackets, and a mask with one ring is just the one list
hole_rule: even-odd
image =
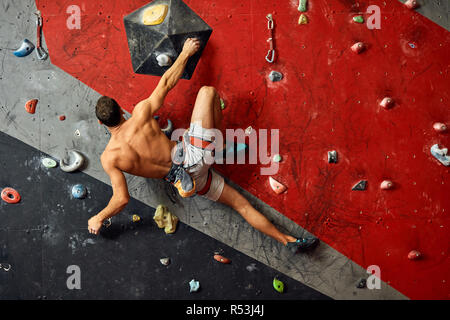
[(161, 108), (169, 91), (172, 90), (178, 83), (178, 80), (181, 79), (189, 58), (192, 57), (199, 48), (199, 40), (189, 38), (185, 41), (183, 50), (177, 60), (175, 60), (174, 64), (161, 77), (161, 80), (159, 80), (158, 85), (150, 97), (136, 105), (133, 110), (133, 116), (149, 120), (153, 114)]

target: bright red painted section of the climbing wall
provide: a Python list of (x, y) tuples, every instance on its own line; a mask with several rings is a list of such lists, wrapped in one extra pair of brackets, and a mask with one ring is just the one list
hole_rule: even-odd
[[(449, 171), (430, 152), (450, 145), (436, 130), (449, 121), (449, 31), (399, 1), (310, 0), (301, 19), (294, 0), (185, 2), (213, 32), (162, 118), (187, 127), (198, 89), (215, 86), (227, 128), (280, 129), (272, 178), (287, 190), (276, 195), (259, 165), (219, 171), (363, 268), (378, 265), (406, 296), (449, 298)], [(124, 28), (147, 3), (37, 0), (51, 62), (132, 111), (159, 80), (133, 72)], [(65, 27), (71, 5), (80, 29)], [(379, 29), (366, 24), (371, 5)], [(283, 78), (272, 82), (271, 71)], [(412, 250), (420, 259), (408, 259)]]

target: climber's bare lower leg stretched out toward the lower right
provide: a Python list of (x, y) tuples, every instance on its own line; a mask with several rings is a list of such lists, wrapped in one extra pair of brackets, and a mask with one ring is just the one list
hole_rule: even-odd
[(257, 211), (236, 189), (225, 183), (219, 202), (226, 204), (239, 214), (255, 229), (286, 245), (297, 239), (282, 233), (265, 216)]

